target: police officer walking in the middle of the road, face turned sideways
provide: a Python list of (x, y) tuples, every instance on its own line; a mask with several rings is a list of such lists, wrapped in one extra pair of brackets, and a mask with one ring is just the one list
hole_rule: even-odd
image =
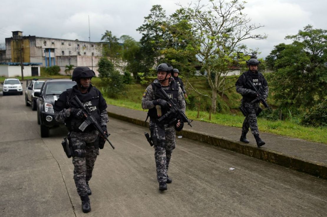
[(149, 109), (150, 133), (154, 146), (157, 180), (161, 191), (167, 190), (166, 183), (172, 182), (167, 175), (167, 170), (171, 153), (176, 146), (176, 130), (180, 131), (183, 128), (183, 122), (178, 114), (171, 114), (163, 121), (158, 121), (161, 116), (169, 111), (171, 106), (155, 94), (158, 89), (163, 88), (170, 98), (176, 100), (176, 104), (185, 113), (183, 92), (171, 77), (171, 73), (173, 73), (171, 65), (165, 63), (158, 65), (157, 79), (146, 88), (142, 98), (142, 108)]

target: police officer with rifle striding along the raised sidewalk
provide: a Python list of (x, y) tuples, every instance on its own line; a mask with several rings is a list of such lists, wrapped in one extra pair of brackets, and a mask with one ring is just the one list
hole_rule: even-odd
[(251, 132), (257, 142), (257, 146), (263, 146), (266, 144), (260, 137), (259, 137), (259, 130), (257, 125), (257, 115), (260, 102), (251, 103), (257, 97), (256, 92), (252, 89), (250, 84), (248, 84), (248, 79), (250, 82), (253, 83), (253, 86), (257, 90), (262, 88), (263, 90), (263, 97), (267, 99), (268, 96), (268, 84), (264, 76), (258, 72), (258, 65), (260, 62), (257, 59), (250, 59), (246, 61), (247, 65), (249, 66), (249, 70), (244, 72), (236, 81), (236, 91), (239, 94), (242, 94), (242, 106), (245, 108), (247, 116), (243, 122), (242, 126), (242, 135), (240, 138), (241, 142), (249, 143), (249, 140), (246, 138), (246, 134), (249, 131), (249, 127)]

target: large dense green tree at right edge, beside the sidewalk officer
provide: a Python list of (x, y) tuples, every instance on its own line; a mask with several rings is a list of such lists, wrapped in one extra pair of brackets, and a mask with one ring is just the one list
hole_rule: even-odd
[(327, 30), (307, 25), (292, 44), (279, 44), (269, 58), (277, 70), (271, 85), (281, 108), (301, 113), (327, 98)]

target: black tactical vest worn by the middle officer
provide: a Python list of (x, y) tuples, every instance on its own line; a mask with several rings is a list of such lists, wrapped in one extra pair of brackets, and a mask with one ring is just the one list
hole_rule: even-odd
[[(154, 90), (154, 93), (158, 91), (158, 89), (162, 88), (161, 84), (159, 83), (151, 83), (152, 89)], [(173, 80), (170, 82), (169, 89), (165, 90), (163, 89), (166, 94), (172, 98), (173, 100), (176, 100), (177, 103), (177, 98), (178, 98), (178, 84)], [(155, 95), (155, 99), (159, 99), (157, 95)], [(177, 103), (178, 104), (178, 103)], [(162, 116), (169, 111), (169, 108), (161, 108), (161, 113)], [(150, 108), (149, 111), (147, 112), (147, 115), (150, 117), (150, 120), (156, 120), (160, 117), (158, 117), (157, 114), (157, 109), (156, 107)], [(165, 120), (171, 120), (172, 118), (175, 118), (176, 114), (171, 114)], [(166, 122), (167, 122), (166, 121)], [(163, 123), (163, 122), (162, 122)]]

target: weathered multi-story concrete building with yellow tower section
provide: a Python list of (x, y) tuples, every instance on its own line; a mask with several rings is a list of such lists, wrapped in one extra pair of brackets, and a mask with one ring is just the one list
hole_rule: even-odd
[[(64, 74), (66, 65), (87, 66), (97, 73), (97, 63), (102, 56), (101, 43), (23, 36), (23, 32), (14, 31), (6, 38), (6, 58), (2, 62), (23, 62), (24, 65), (60, 66)], [(22, 59), (21, 59), (22, 58)], [(33, 72), (32, 72), (33, 73)]]

